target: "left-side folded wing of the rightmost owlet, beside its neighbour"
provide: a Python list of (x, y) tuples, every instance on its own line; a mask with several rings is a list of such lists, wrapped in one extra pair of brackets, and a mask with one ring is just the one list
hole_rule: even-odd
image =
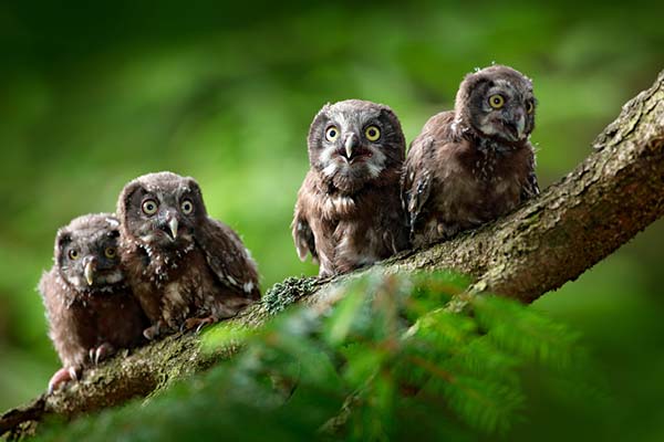
[(404, 168), (402, 201), (411, 232), (432, 191), (432, 173), (426, 168), (425, 154), (433, 149), (433, 137), (415, 138)]

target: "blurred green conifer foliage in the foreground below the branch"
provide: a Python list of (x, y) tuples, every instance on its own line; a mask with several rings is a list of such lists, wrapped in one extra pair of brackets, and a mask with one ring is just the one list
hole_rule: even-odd
[[(42, 440), (471, 440), (506, 433), (522, 413), (523, 367), (603, 401), (568, 327), (497, 297), (445, 312), (467, 286), (448, 276), (373, 272), (336, 287), (344, 297), (329, 312), (297, 306), (259, 332), (231, 332), (242, 351), (209, 373), (42, 428)], [(206, 334), (207, 347), (226, 332)]]

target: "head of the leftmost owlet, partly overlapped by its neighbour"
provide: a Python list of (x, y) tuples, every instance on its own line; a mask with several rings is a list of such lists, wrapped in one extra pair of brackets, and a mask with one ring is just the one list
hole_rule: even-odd
[(111, 213), (79, 217), (55, 236), (55, 266), (79, 292), (101, 290), (124, 280), (117, 255), (120, 221)]

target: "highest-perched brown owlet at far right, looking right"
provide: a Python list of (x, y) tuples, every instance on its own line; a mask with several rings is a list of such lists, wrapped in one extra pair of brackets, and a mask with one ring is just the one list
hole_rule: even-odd
[(466, 75), (454, 110), (415, 138), (403, 175), (411, 239), (423, 246), (491, 221), (539, 193), (532, 83), (494, 65)]

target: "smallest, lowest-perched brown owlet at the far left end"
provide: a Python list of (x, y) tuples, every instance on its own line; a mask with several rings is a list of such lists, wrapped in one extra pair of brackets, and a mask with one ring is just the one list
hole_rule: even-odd
[(58, 231), (54, 265), (39, 283), (49, 336), (63, 365), (50, 391), (75, 379), (82, 367), (143, 341), (148, 323), (121, 270), (118, 229), (114, 215), (100, 213)]

